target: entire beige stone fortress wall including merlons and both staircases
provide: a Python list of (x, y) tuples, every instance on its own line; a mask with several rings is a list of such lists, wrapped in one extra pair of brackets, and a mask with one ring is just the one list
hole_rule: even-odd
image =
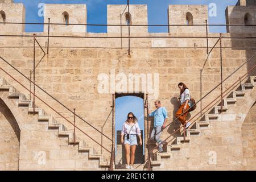
[[(237, 6), (228, 6), (226, 23), (255, 24), (253, 2), (239, 1)], [(20, 3), (0, 0), (0, 12), (2, 21), (25, 22)], [(132, 26), (148, 23), (146, 5), (130, 5), (130, 15), (125, 5), (108, 5), (108, 24), (118, 26), (108, 26), (106, 33), (86, 32), (86, 14), (86, 5), (46, 4), (44, 23), (48, 18), (51, 23), (61, 23), (49, 28), (49, 35), (59, 37), (51, 36), (48, 42), (47, 24), (43, 32), (36, 32), (41, 47), (36, 44), (35, 63), (33, 33), (24, 32), (23, 25), (0, 24), (1, 35), (24, 35), (0, 37), (1, 170), (108, 169), (112, 110), (115, 112), (113, 94), (115, 98), (136, 96), (144, 101), (148, 94), (150, 112), (155, 110), (156, 99), (166, 107), (171, 125), (161, 138), (169, 137), (168, 144), (164, 153), (151, 154), (153, 169), (256, 169), (256, 135), (251, 127), (255, 125), (256, 72), (252, 68), (256, 60), (250, 59), (256, 53), (256, 40), (241, 39), (255, 37), (255, 28), (228, 27), (228, 32), (222, 34), (220, 51), (220, 42), (216, 44), (219, 34), (208, 32), (207, 42), (205, 26), (193, 26), (205, 24), (208, 19), (205, 5), (168, 6), (170, 27), (163, 33)], [(122, 38), (128, 35), (127, 23), (131, 24), (132, 36), (143, 36), (130, 39), (130, 55), (128, 39)], [(175, 24), (184, 26), (172, 26)], [(214, 44), (216, 47), (208, 55), (207, 45), (210, 50)], [(45, 52), (48, 48), (44, 57), (41, 48)], [(35, 89), (35, 114), (30, 94), (33, 84), (24, 77), (30, 78), (34, 64), (38, 64), (35, 82), (40, 86)], [(230, 76), (237, 68), (239, 71)], [(221, 87), (217, 86), (221, 70), (224, 79), (230, 76), (222, 85), (226, 91), (222, 113), (218, 97)], [(140, 93), (127, 92), (130, 81), (132, 87), (139, 83)], [(187, 84), (196, 101), (205, 96), (188, 114), (190, 119), (195, 117), (195, 125), (187, 130), (185, 140), (180, 122), (175, 121), (179, 82)], [(141, 89), (143, 85), (146, 90)], [(73, 109), (77, 114), (75, 133)], [(149, 127), (145, 110), (144, 144), (154, 123), (153, 118), (148, 119)], [(174, 130), (177, 132), (172, 134)], [(149, 148), (153, 147), (155, 143), (149, 142)], [(143, 160), (138, 169), (146, 169), (147, 150), (141, 153)], [(121, 160), (121, 156), (117, 159)]]

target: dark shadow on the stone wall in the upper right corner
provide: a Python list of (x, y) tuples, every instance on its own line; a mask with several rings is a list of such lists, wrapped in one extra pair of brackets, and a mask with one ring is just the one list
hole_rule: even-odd
[[(241, 2), (241, 3), (240, 3)], [(242, 6), (240, 6), (242, 5)], [(246, 5), (246, 6), (245, 6)], [(245, 27), (230, 26), (227, 27), (227, 32), (230, 36), (254, 36), (256, 35), (256, 28), (249, 25), (256, 24), (255, 17), (256, 2), (251, 0), (238, 1), (237, 6), (228, 6), (226, 9), (226, 24), (242, 24)], [(256, 53), (256, 40), (255, 39), (231, 39), (232, 50), (245, 51), (246, 60), (250, 59)], [(242, 57), (235, 53), (234, 58)], [(241, 53), (242, 54), (242, 53)], [(238, 63), (244, 63), (244, 59), (237, 60)], [(256, 64), (256, 57), (254, 57), (249, 63), (247, 63), (247, 71)], [(256, 75), (256, 69), (251, 72), (248, 78), (252, 75)]]

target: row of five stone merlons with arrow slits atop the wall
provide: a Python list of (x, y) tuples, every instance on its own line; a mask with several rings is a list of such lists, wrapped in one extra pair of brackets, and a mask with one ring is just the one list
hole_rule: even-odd
[[(256, 1), (239, 0), (236, 6), (226, 8), (226, 24), (256, 24)], [(127, 24), (147, 25), (147, 5), (130, 5), (130, 14), (127, 5), (108, 5), (108, 24), (120, 24), (120, 26), (108, 26), (108, 33), (127, 34)], [(205, 26), (192, 26), (193, 24), (205, 24), (208, 20), (207, 5), (169, 5), (168, 6), (168, 27), (169, 33), (182, 34), (187, 32), (205, 33)], [(84, 4), (45, 4), (44, 23), (63, 23), (64, 25), (51, 25), (51, 32), (81, 33), (86, 32), (86, 26), (71, 24), (86, 24), (87, 10)], [(25, 22), (25, 9), (22, 3), (13, 3), (13, 0), (0, 0), (0, 21), (1, 22)], [(67, 24), (67, 25), (65, 25)], [(175, 26), (176, 24), (189, 26)], [(123, 26), (121, 26), (123, 25)], [(0, 25), (1, 30), (8, 32), (23, 32), (22, 24)], [(47, 24), (44, 32), (48, 31)], [(227, 27), (228, 32), (233, 33), (254, 33), (254, 27)], [(131, 26), (131, 34), (145, 34), (147, 26)]]

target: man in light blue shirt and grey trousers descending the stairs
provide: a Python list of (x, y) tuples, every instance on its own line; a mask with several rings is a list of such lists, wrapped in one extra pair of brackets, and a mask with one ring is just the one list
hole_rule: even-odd
[(151, 140), (156, 140), (159, 147), (159, 152), (163, 152), (163, 143), (160, 140), (160, 136), (162, 134), (162, 129), (166, 127), (167, 123), (167, 111), (166, 108), (161, 106), (160, 101), (155, 101), (156, 110), (149, 114), (150, 117), (154, 117), (154, 129), (151, 133)]

